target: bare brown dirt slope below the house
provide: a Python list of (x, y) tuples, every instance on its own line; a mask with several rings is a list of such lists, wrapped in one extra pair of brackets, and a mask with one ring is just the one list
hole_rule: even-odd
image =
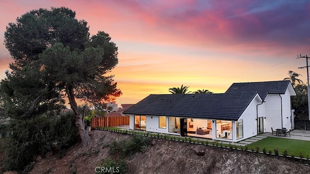
[[(130, 135), (92, 131), (91, 145), (75, 145), (62, 159), (57, 155), (37, 157), (31, 174), (94, 174), (95, 167), (109, 157), (106, 144)], [(309, 174), (310, 167), (299, 160), (269, 157), (245, 151), (154, 139), (155, 145), (127, 158), (128, 174)], [(194, 149), (204, 150), (197, 156)], [(111, 157), (112, 158), (112, 157)]]

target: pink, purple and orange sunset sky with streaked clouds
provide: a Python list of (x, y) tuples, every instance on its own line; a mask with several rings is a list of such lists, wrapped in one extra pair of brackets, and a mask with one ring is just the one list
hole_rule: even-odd
[(1, 0), (0, 79), (12, 61), (2, 44), (8, 23), (61, 6), (118, 46), (119, 106), (182, 84), (222, 93), (234, 82), (283, 80), (289, 70), (307, 82), (298, 69), (306, 60), (296, 58), (310, 56), (309, 0)]

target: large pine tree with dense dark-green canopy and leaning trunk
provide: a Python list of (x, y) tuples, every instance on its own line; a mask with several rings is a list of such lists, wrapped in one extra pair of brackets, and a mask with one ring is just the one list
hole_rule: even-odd
[(90, 36), (84, 20), (68, 8), (32, 10), (9, 23), (4, 43), (14, 62), (1, 81), (7, 114), (33, 117), (63, 106), (75, 113), (83, 144), (89, 137), (77, 99), (102, 103), (122, 93), (113, 76), (118, 48), (108, 33)]

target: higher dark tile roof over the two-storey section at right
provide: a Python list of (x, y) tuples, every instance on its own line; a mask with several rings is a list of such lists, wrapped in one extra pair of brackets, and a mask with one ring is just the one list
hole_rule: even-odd
[(291, 82), (288, 80), (269, 82), (233, 83), (225, 93), (234, 94), (240, 92), (256, 91), (264, 101), (268, 94), (284, 94)]

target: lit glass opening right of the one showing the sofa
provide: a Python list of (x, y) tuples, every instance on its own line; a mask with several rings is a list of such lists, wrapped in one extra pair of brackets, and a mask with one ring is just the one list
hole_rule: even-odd
[(224, 121), (224, 120), (217, 120), (217, 138), (223, 139), (233, 139), (233, 122), (232, 121)]

